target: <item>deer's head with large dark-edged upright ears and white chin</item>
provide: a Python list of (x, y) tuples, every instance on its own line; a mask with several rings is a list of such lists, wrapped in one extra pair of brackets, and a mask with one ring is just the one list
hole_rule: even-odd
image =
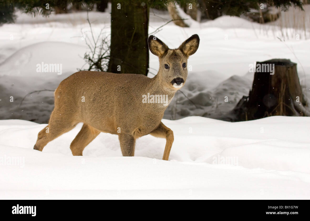
[(192, 35), (176, 49), (168, 48), (153, 35), (148, 37), (150, 51), (159, 57), (158, 75), (165, 87), (178, 90), (184, 85), (187, 78), (187, 59), (197, 51), (198, 46), (197, 34)]

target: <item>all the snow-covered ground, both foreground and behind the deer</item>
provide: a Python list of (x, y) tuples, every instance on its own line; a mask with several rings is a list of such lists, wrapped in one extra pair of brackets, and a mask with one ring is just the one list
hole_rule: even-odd
[[(95, 34), (101, 28), (109, 34), (108, 12), (89, 16)], [(151, 10), (149, 33), (169, 20), (166, 13)], [(53, 109), (53, 92), (32, 93), (20, 102), (30, 92), (54, 90), (83, 66), (87, 47), (81, 29), (89, 30), (85, 12), (49, 18), (17, 13), (15, 24), (0, 27), (1, 199), (310, 199), (309, 117), (216, 120), (227, 120), (228, 111), (248, 94), (254, 76), (249, 64), (256, 61), (286, 58), (297, 63), (309, 97), (310, 40), (290, 37), (296, 29), (286, 28), (288, 39), (283, 39), (276, 23), (222, 16), (201, 24), (192, 21), (190, 28), (169, 23), (156, 33), (171, 48), (195, 33), (201, 39), (181, 89), (197, 108), (177, 93), (163, 119), (175, 135), (169, 162), (161, 160), (165, 140), (150, 135), (137, 141), (135, 157), (121, 157), (117, 136), (103, 133), (84, 156), (73, 157), (69, 145), (80, 124), (43, 152), (32, 150)], [(302, 30), (306, 37), (309, 30)], [(62, 74), (36, 72), (42, 62), (62, 64)], [(148, 76), (157, 70), (158, 58), (150, 53)], [(15, 163), (9, 165), (12, 159)]]

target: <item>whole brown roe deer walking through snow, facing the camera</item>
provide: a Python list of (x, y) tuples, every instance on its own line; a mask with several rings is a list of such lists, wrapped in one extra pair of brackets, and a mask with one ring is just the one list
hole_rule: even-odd
[(170, 49), (157, 37), (149, 36), (149, 50), (159, 58), (158, 73), (153, 78), (96, 71), (67, 77), (54, 92), (54, 110), (33, 149), (42, 151), (48, 142), (83, 123), (70, 144), (73, 156), (82, 156), (84, 148), (104, 132), (118, 135), (123, 156), (134, 156), (139, 137), (150, 134), (165, 138), (162, 159), (169, 160), (174, 135), (162, 123), (162, 117), (186, 82), (187, 60), (197, 51), (199, 41), (194, 34), (179, 48)]

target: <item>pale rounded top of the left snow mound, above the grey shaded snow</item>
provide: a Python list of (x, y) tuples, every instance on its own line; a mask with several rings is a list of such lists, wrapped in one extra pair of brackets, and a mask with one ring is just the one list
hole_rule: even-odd
[[(62, 51), (66, 53), (62, 53)], [(35, 77), (39, 80), (54, 79), (59, 75), (57, 72), (37, 72), (38, 66), (43, 64), (61, 64), (62, 73), (72, 72), (77, 64), (84, 63), (79, 55), (86, 51), (85, 46), (64, 42), (40, 42), (26, 46), (0, 64), (0, 76)], [(75, 69), (76, 70), (76, 69)]]

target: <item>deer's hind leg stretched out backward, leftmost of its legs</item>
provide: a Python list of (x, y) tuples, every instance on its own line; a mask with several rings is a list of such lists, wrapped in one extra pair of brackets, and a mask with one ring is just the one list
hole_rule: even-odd
[(38, 139), (33, 146), (33, 149), (42, 151), (48, 142), (66, 132), (69, 132), (76, 126), (76, 124), (77, 123), (72, 122), (68, 117), (61, 116), (53, 111), (48, 125), (38, 133)]

